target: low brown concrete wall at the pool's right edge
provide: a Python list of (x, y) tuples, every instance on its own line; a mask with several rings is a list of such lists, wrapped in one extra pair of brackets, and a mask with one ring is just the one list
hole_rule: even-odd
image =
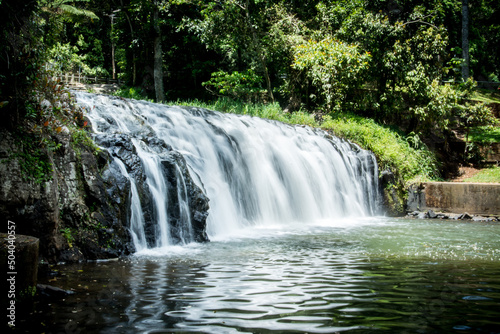
[(408, 210), (500, 215), (500, 184), (421, 183), (410, 188)]

